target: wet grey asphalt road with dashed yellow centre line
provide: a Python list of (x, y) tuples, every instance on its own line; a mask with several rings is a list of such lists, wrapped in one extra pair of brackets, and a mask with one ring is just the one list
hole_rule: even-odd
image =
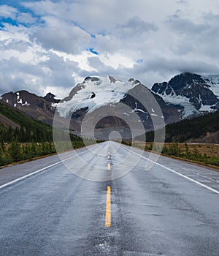
[(219, 255), (218, 172), (146, 170), (149, 153), (115, 142), (76, 152), (0, 170), (0, 255)]

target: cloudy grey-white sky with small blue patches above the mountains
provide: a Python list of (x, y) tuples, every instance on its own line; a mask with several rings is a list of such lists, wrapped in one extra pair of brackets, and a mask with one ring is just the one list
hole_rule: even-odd
[(89, 75), (148, 88), (219, 75), (218, 0), (0, 0), (0, 95), (58, 98)]

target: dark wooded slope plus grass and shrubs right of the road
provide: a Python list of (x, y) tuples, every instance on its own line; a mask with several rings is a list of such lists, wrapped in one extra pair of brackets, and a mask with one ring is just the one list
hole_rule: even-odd
[[(154, 132), (138, 136), (135, 146), (147, 151), (161, 152), (161, 146), (153, 147)], [(141, 142), (142, 141), (142, 142)], [(219, 110), (193, 119), (184, 119), (166, 125), (165, 143), (162, 154), (187, 159), (205, 165), (219, 166)]]

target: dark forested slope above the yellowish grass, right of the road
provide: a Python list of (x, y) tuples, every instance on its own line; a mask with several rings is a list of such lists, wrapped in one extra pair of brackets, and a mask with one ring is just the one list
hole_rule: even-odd
[[(146, 133), (153, 141), (153, 132)], [(137, 140), (142, 140), (139, 136)], [(219, 110), (193, 119), (166, 125), (166, 142), (219, 143)]]

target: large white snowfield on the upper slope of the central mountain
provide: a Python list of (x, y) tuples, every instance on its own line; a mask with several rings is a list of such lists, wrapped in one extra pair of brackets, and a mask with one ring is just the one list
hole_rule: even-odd
[(88, 77), (77, 84), (74, 89), (62, 100), (58, 106), (60, 116), (66, 117), (69, 112), (88, 108), (87, 113), (103, 107), (120, 102), (120, 99), (126, 93), (139, 84), (139, 81), (134, 79), (123, 78), (123, 80), (112, 78), (112, 76), (104, 77)]

